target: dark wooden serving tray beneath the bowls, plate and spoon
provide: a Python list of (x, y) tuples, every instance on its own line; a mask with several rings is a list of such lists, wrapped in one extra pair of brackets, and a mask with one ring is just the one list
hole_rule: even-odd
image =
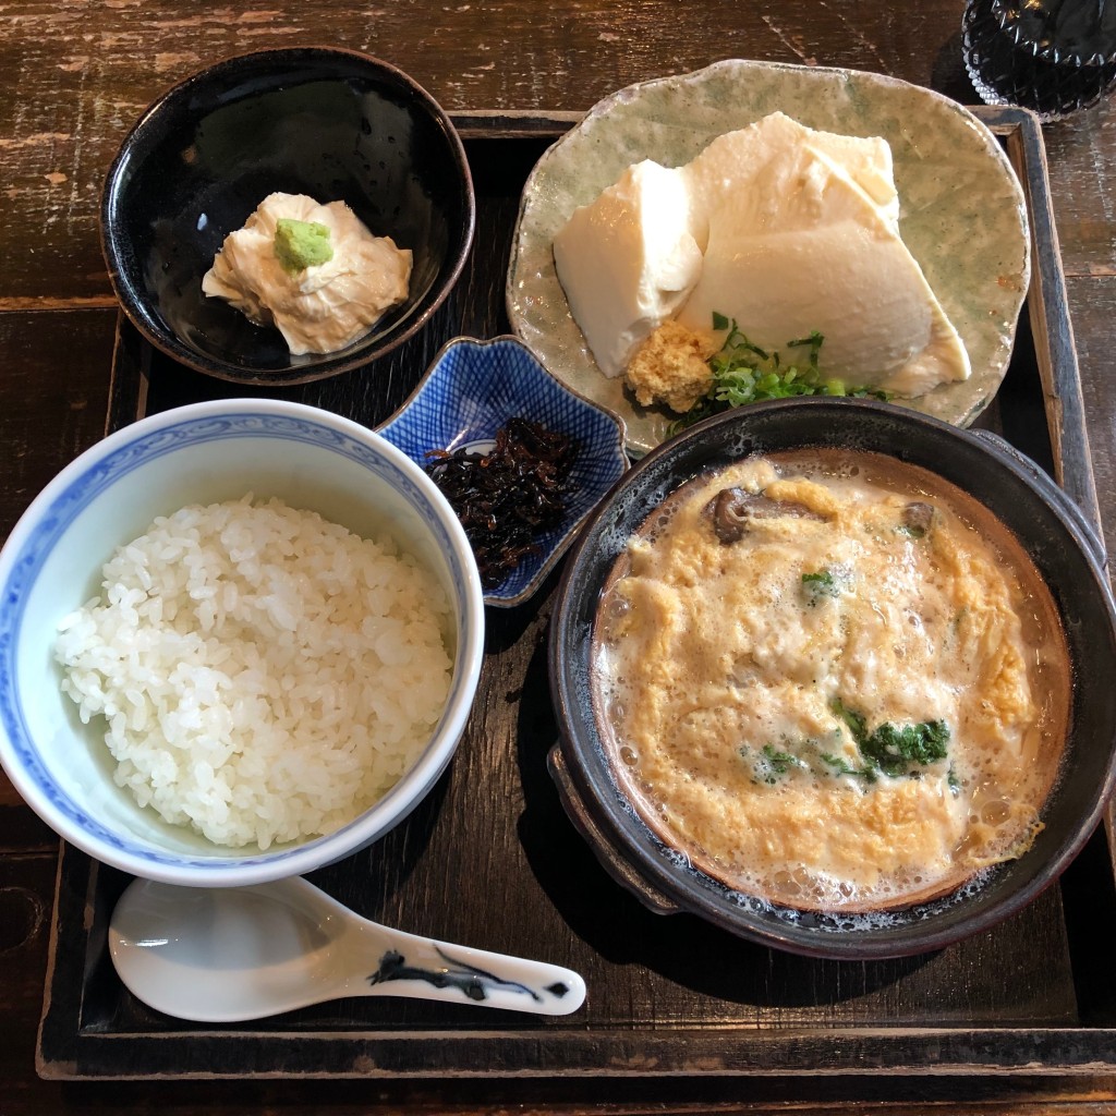
[[(980, 112), (1027, 191), (1036, 264), (1011, 368), (981, 424), (1054, 473), (1097, 522), (1041, 133), (1024, 112)], [(403, 402), (448, 338), (507, 331), (503, 279), (519, 193), (547, 144), (575, 118), (459, 116), (479, 213), (456, 291), (396, 354), (282, 394), (374, 425)], [(257, 393), (173, 365), (122, 320), (110, 430), (181, 403), (243, 394)], [(312, 878), (372, 918), (570, 965), (588, 984), (584, 1009), (540, 1019), (358, 999), (257, 1023), (184, 1023), (132, 998), (108, 959), (106, 925), (127, 877), (64, 846), (39, 1072), (381, 1078), (381, 1088), (389, 1088), (386, 1079), (454, 1078), (466, 1087), (461, 1079), (480, 1078), (489, 1099), (540, 1096), (522, 1079), (561, 1075), (567, 1088), (591, 1078), (586, 1095), (599, 1100), (609, 1095), (605, 1079), (632, 1077), (1116, 1068), (1116, 974), (1095, 930), (1116, 915), (1104, 833), (1059, 886), (992, 931), (940, 953), (867, 964), (791, 956), (690, 915), (657, 916), (614, 884), (547, 776), (556, 725), (545, 633), (555, 586), (552, 575), (527, 605), (489, 610), (477, 705), (430, 798), (372, 849)], [(518, 1083), (501, 1094), (492, 1079), (511, 1077)], [(827, 1096), (839, 1094), (839, 1083), (831, 1085)]]

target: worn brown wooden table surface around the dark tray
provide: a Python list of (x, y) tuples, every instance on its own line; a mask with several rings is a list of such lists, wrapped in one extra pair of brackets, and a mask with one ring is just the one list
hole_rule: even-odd
[[(125, 132), (176, 80), (222, 57), (330, 44), (385, 58), (448, 109), (583, 110), (616, 88), (725, 57), (845, 66), (975, 99), (961, 0), (3, 0), (0, 3), (0, 532), (104, 433), (116, 305), (97, 230)], [(1116, 389), (1116, 108), (1045, 129), (1069, 310), (1109, 549)], [(0, 536), (0, 537), (2, 537)], [(1040, 1072), (924, 1086), (865, 1078), (610, 1083), (62, 1084), (35, 1071), (58, 847), (0, 777), (0, 1114), (533, 1112), (1116, 1112), (1116, 1079)], [(893, 1108), (894, 1106), (894, 1108)]]

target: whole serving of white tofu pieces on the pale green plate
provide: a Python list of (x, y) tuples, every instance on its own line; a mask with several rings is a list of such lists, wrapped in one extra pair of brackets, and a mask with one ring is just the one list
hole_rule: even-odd
[(608, 376), (663, 321), (712, 337), (722, 315), (788, 360), (820, 333), (825, 375), (916, 396), (970, 364), (898, 218), (886, 141), (772, 113), (683, 167), (629, 167), (575, 212), (555, 260)]

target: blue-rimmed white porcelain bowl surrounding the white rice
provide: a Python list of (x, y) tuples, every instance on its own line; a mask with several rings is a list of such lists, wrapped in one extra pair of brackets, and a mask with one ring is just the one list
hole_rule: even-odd
[[(355, 533), (391, 535), (444, 588), (455, 624), (450, 693), (400, 781), (334, 833), (266, 850), (214, 845), (170, 825), (113, 780), (55, 662), (58, 623), (100, 588), (102, 566), (160, 516), (186, 504), (278, 497)], [(422, 800), (472, 706), (484, 642), (480, 578), (464, 531), (433, 482), (357, 423), (267, 400), (201, 403), (141, 420), (81, 454), (32, 502), (0, 551), (0, 763), (61, 837), (134, 875), (233, 886), (301, 875), (371, 844)]]

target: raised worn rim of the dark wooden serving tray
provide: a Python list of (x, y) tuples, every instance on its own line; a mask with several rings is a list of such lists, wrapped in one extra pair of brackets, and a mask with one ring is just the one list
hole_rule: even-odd
[[(1028, 291), (1030, 325), (1035, 336), (1035, 352), (1043, 385), (1043, 402), (1047, 423), (1054, 454), (1056, 479), (1070, 497), (1081, 507), (1090, 523), (1100, 531), (1099, 504), (1096, 484), (1089, 456), (1088, 437), (1085, 425), (1085, 410), (1081, 395), (1080, 375), (1074, 345), (1072, 327), (1066, 301), (1065, 277), (1058, 249), (1057, 230), (1054, 222), (1050, 202), (1049, 179), (1047, 173), (1046, 148), (1037, 117), (1026, 110), (1012, 107), (975, 106), (972, 108), (978, 118), (1001, 136), (1028, 203), (1031, 227), (1032, 268), (1031, 282)], [(567, 112), (509, 112), (509, 110), (469, 110), (450, 114), (462, 138), (465, 140), (514, 140), (514, 138), (555, 138), (560, 137), (580, 118), (580, 113)], [(142, 375), (129, 377), (132, 383), (125, 391), (118, 387), (115, 377), (121, 363), (132, 363), (133, 369), (142, 372), (144, 354), (135, 352), (127, 344), (127, 336), (117, 328), (116, 347), (113, 357), (114, 382), (110, 385), (110, 407), (106, 419), (106, 433), (134, 421), (143, 412), (144, 384)], [(1116, 808), (1109, 804), (1106, 814), (1109, 858), (1116, 875)], [(199, 1032), (196, 1045), (199, 1059), (195, 1068), (162, 1066), (164, 1055), (162, 1047), (167, 1043), (160, 1036), (144, 1035), (83, 1035), (80, 1019), (74, 1019), (71, 1013), (56, 1004), (51, 998), (51, 988), (59, 973), (60, 958), (58, 954), (58, 911), (62, 887), (67, 882), (79, 883), (83, 872), (88, 877), (89, 860), (84, 854), (62, 845), (59, 870), (56, 883), (55, 912), (51, 926), (51, 946), (48, 959), (44, 1011), (40, 1019), (39, 1037), (36, 1048), (37, 1071), (40, 1077), (52, 1080), (87, 1080), (87, 1079), (135, 1079), (142, 1078), (213, 1078), (221, 1076), (214, 1071), (215, 1062), (206, 1058), (204, 1051), (213, 1042), (228, 1050), (229, 1043), (246, 1045), (246, 1056), (250, 1064), (258, 1065), (259, 1059), (252, 1057), (252, 1043), (257, 1043), (256, 1052), (262, 1050), (262, 1045), (269, 1042), (273, 1035), (243, 1036), (215, 1033), (206, 1036)], [(92, 918), (92, 897), (86, 895), (84, 907), (85, 924)], [(69, 969), (74, 969), (73, 965)], [(68, 970), (69, 971), (69, 970)], [(80, 974), (80, 966), (69, 975)], [(62, 1017), (66, 1018), (62, 1018)], [(375, 1042), (375, 1036), (355, 1031), (339, 1038), (336, 1033), (325, 1035), (318, 1031), (285, 1032), (283, 1037), (299, 1040), (292, 1043), (298, 1047), (300, 1060), (305, 1065), (289, 1065), (258, 1071), (237, 1071), (228, 1076), (238, 1079), (247, 1078), (286, 1078), (286, 1077), (355, 1077), (355, 1078), (423, 1078), (423, 1077), (535, 1077), (555, 1076), (552, 1066), (539, 1062), (540, 1051), (550, 1045), (549, 1039), (557, 1038), (559, 1032), (523, 1032), (508, 1036), (501, 1033), (501, 1041), (509, 1043), (508, 1054), (516, 1054), (506, 1067), (485, 1066), (477, 1074), (462, 1074), (460, 1069), (451, 1070), (448, 1066), (454, 1059), (448, 1057), (451, 1050), (461, 1051), (469, 1047), (471, 1037), (455, 1033), (423, 1036), (436, 1046), (433, 1050), (433, 1061), (429, 1069), (405, 1069), (377, 1062), (368, 1058), (369, 1043)], [(599, 1032), (588, 1035), (571, 1031), (585, 1046), (585, 1052), (590, 1054)], [(491, 1038), (488, 1032), (478, 1038)], [(1027, 1041), (1021, 1041), (1026, 1037)], [(727, 1042), (725, 1032), (720, 1030), (695, 1031), (692, 1042), (687, 1043), (686, 1065), (679, 1064), (679, 1049), (673, 1048), (666, 1036), (652, 1036), (663, 1049), (657, 1056), (646, 1049), (647, 1036), (638, 1036), (638, 1043), (633, 1039), (633, 1060), (631, 1065), (613, 1064), (606, 1069), (584, 1065), (562, 1067), (562, 1076), (605, 1077), (605, 1076), (658, 1076), (694, 1072), (694, 1066), (702, 1062), (701, 1072), (710, 1076), (766, 1076), (776, 1077), (786, 1074), (810, 1074), (820, 1076), (872, 1075), (872, 1074), (916, 1074), (916, 1075), (1036, 1075), (1036, 1076), (1081, 1076), (1110, 1072), (1116, 1069), (1116, 1030), (1097, 1028), (977, 1028), (965, 1030), (960, 1027), (935, 1028), (840, 1028), (834, 1031), (796, 1030), (771, 1035), (763, 1033), (763, 1049), (748, 1050), (749, 1036), (737, 1036), (734, 1043)], [(150, 1067), (143, 1074), (127, 1074), (108, 1068), (110, 1057), (104, 1057), (106, 1043), (114, 1040), (128, 1039), (132, 1042), (145, 1040), (150, 1047)], [(306, 1059), (323, 1041), (338, 1040), (352, 1046), (354, 1051), (350, 1072), (318, 1072), (314, 1069), (314, 1058)], [(475, 1039), (472, 1039), (475, 1041)], [(771, 1057), (771, 1042), (777, 1041), (782, 1051), (782, 1058)], [(728, 1049), (728, 1047), (732, 1049)], [(519, 1049), (522, 1047), (522, 1049)], [(638, 1047), (638, 1048), (637, 1048)], [(1043, 1051), (1040, 1061), (1033, 1059), (1036, 1048)], [(102, 1048), (100, 1055), (95, 1051)], [(433, 1049), (433, 1047), (432, 1047)], [(1029, 1049), (1031, 1058), (1023, 1060), (1020, 1051)], [(705, 1056), (702, 1057), (702, 1050)], [(837, 1058), (841, 1064), (837, 1064)], [(225, 1056), (227, 1057), (227, 1056)]]

